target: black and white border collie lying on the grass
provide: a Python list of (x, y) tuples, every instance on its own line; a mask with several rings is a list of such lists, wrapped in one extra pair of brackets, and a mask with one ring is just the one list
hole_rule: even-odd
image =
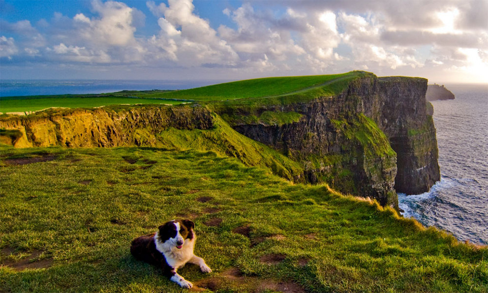
[(176, 273), (178, 268), (190, 262), (200, 266), (203, 273), (212, 271), (203, 258), (193, 254), (196, 240), (194, 228), (195, 224), (190, 220), (166, 222), (159, 226), (156, 233), (134, 239), (131, 253), (135, 258), (162, 269), (171, 281), (181, 287), (191, 288), (193, 284)]

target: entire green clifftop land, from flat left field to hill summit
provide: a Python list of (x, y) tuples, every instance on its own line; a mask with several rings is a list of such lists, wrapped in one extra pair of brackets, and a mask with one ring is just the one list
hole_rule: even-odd
[(50, 107), (90, 108), (117, 104), (171, 104), (266, 98), (310, 99), (341, 92), (365, 72), (333, 75), (286, 76), (240, 80), (180, 91), (122, 91), (97, 95), (2, 97), (0, 112), (39, 111)]

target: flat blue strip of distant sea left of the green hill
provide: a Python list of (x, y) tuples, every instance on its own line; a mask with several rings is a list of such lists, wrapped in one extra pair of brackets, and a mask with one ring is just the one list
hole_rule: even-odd
[(0, 80), (0, 97), (185, 90), (230, 80)]

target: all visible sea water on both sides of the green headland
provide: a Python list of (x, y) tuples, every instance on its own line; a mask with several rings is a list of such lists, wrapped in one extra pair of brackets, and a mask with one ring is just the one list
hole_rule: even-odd
[[(182, 90), (229, 80), (1, 80), (0, 97)], [(446, 85), (455, 99), (434, 101), (441, 181), (429, 192), (399, 194), (404, 217), (488, 244), (488, 87)]]

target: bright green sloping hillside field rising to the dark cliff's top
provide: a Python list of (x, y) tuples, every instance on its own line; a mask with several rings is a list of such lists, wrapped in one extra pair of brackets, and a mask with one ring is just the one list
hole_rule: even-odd
[(233, 99), (278, 97), (312, 92), (317, 89), (335, 92), (334, 84), (351, 80), (364, 75), (364, 72), (348, 72), (333, 75), (268, 77), (233, 81), (215, 85), (197, 87), (196, 89), (174, 91), (169, 93), (146, 94), (145, 98), (191, 99), (197, 101), (222, 101)]

